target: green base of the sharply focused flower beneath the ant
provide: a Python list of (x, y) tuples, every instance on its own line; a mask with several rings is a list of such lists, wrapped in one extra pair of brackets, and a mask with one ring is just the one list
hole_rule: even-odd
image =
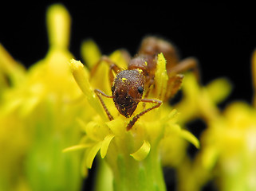
[(129, 155), (118, 154), (112, 162), (114, 190), (166, 190), (159, 153), (152, 148), (148, 157), (138, 162)]

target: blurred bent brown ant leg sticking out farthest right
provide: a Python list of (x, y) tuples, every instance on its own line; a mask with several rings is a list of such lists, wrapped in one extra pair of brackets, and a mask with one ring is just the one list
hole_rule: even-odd
[(196, 79), (200, 80), (200, 73), (199, 73), (199, 64), (198, 60), (194, 57), (188, 57), (184, 60), (181, 60), (178, 64), (174, 67), (168, 69), (168, 76), (174, 76), (175, 74), (186, 72), (187, 70), (192, 70), (194, 72)]

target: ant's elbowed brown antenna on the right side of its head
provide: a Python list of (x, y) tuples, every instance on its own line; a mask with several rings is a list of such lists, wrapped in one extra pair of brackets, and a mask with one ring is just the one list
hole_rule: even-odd
[(162, 101), (160, 101), (158, 99), (138, 99), (138, 101), (141, 101), (141, 102), (144, 102), (144, 103), (156, 103), (156, 105), (154, 105), (153, 107), (149, 107), (148, 109), (146, 109), (144, 111), (141, 111), (139, 114), (134, 116), (126, 127), (127, 131), (132, 129), (133, 125), (136, 123), (136, 121), (140, 118), (141, 115), (144, 115), (145, 113), (147, 113), (148, 111), (151, 111), (152, 109), (160, 107), (160, 105), (162, 104)]

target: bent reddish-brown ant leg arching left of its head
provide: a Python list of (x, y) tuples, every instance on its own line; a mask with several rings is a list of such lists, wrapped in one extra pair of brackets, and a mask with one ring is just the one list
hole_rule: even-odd
[[(96, 73), (97, 68), (100, 66), (102, 62), (105, 62), (109, 65), (109, 71), (108, 71), (108, 80), (109, 84), (112, 85), (112, 82), (114, 80), (114, 75), (113, 72), (118, 73), (121, 71), (121, 68), (119, 68), (112, 60), (109, 59), (107, 56), (102, 56), (100, 60), (93, 66), (91, 72), (90, 72), (90, 77), (93, 78), (93, 76)], [(113, 72), (112, 72), (113, 71)]]

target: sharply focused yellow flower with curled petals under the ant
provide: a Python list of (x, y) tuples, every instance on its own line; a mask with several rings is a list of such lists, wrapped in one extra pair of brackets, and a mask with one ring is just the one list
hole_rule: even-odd
[[(92, 41), (89, 41), (89, 43), (92, 43)], [(90, 47), (90, 45), (88, 46)], [(86, 44), (84, 45), (84, 51), (85, 49)], [(120, 55), (117, 51), (110, 57), (119, 64), (120, 62), (116, 60), (120, 59)], [(127, 63), (123, 62), (122, 64)], [(156, 88), (154, 99), (161, 99), (161, 95), (164, 95), (164, 91), (167, 89), (168, 77), (165, 64), (163, 54), (160, 54), (155, 76), (158, 88)], [(150, 190), (157, 187), (164, 190), (165, 185), (160, 165), (160, 142), (164, 138), (170, 138), (171, 134), (186, 138), (197, 147), (199, 147), (199, 141), (191, 133), (179, 127), (175, 117), (177, 111), (169, 107), (167, 103), (163, 103), (161, 107), (142, 115), (132, 129), (126, 131), (126, 126), (131, 119), (126, 119), (123, 115), (120, 115), (112, 99), (106, 98), (104, 102), (114, 118), (109, 121), (94, 93), (94, 88), (100, 88), (108, 94), (111, 93), (108, 80), (104, 80), (108, 79), (108, 67), (105, 67), (106, 65), (102, 66), (97, 75), (94, 75), (91, 79), (91, 81), (97, 81), (97, 83), (95, 82), (97, 86), (93, 86), (93, 82), (90, 83), (89, 80), (89, 70), (80, 61), (70, 61), (73, 76), (97, 115), (94, 115), (89, 123), (85, 123), (81, 118), (78, 119), (85, 131), (85, 136), (81, 139), (79, 145), (69, 147), (64, 151), (85, 149), (84, 165), (86, 168), (91, 168), (93, 159), (100, 150), (101, 158), (104, 158), (112, 169), (116, 190), (121, 190), (124, 187), (136, 190)], [(123, 68), (123, 66), (120, 65), (120, 68)], [(147, 103), (146, 108), (150, 107), (150, 104)], [(136, 112), (143, 110), (144, 104), (139, 103)], [(162, 144), (162, 146), (168, 145)]]

